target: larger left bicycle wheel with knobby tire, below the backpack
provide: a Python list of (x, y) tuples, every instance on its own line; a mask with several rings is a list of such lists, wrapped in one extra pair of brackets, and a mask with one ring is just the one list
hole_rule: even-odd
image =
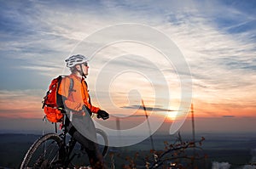
[[(38, 138), (38, 140), (36, 140), (34, 144), (32, 144), (32, 146), (30, 147), (30, 149), (28, 149), (28, 151), (26, 152), (26, 155), (20, 165), (20, 169), (44, 168), (43, 166), (44, 164), (46, 164), (45, 168), (49, 168), (49, 166), (47, 165), (49, 164), (49, 161), (52, 161), (52, 159), (46, 159), (48, 158), (46, 157), (48, 153), (46, 151), (52, 147), (54, 149), (50, 149), (50, 150), (55, 150), (55, 156), (57, 156), (62, 142), (63, 141), (61, 137), (56, 133), (48, 133), (42, 136), (41, 138)], [(41, 147), (44, 149), (41, 149)], [(41, 150), (42, 152), (40, 152)], [(51, 154), (52, 152), (53, 151), (50, 151), (49, 154)], [(37, 157), (37, 155), (39, 156)], [(49, 158), (55, 158), (55, 156), (49, 156)]]

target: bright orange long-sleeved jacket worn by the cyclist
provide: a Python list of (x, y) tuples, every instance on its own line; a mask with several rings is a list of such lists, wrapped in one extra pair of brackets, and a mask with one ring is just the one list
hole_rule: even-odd
[[(72, 91), (69, 91), (70, 78), (73, 79)], [(99, 108), (90, 104), (90, 95), (88, 93), (87, 84), (84, 81), (84, 78), (82, 80), (80, 77), (75, 76), (74, 74), (64, 77), (61, 80), (58, 93), (67, 98), (65, 99), (64, 104), (68, 109), (81, 111), (83, 105), (85, 105), (92, 113), (97, 113), (98, 110), (100, 110)]]

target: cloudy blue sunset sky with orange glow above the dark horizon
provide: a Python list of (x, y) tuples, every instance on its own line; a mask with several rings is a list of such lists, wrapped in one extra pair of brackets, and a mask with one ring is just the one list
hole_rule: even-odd
[(142, 99), (160, 121), (189, 119), (193, 102), (198, 130), (255, 132), (255, 8), (253, 0), (0, 1), (0, 130), (32, 130), (50, 80), (80, 53), (90, 57), (93, 104), (112, 122), (144, 121)]

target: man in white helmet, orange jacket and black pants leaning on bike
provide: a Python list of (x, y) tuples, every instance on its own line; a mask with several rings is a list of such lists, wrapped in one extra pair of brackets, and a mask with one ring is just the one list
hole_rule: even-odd
[[(106, 111), (93, 106), (90, 103), (90, 95), (88, 93), (85, 78), (88, 75), (89, 59), (84, 55), (73, 55), (65, 60), (67, 67), (71, 70), (71, 74), (62, 79), (58, 97), (62, 97), (61, 107), (67, 114), (67, 132), (73, 136), (75, 140), (82, 144), (90, 159), (90, 165), (93, 168), (104, 168), (102, 154), (99, 152), (96, 144), (96, 131), (93, 121), (90, 118), (95, 113), (98, 118), (108, 119), (109, 115)], [(69, 91), (69, 86), (73, 82), (73, 89)]]

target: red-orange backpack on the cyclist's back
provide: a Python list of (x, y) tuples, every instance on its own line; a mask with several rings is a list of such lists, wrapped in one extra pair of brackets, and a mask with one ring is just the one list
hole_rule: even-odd
[[(62, 78), (65, 76), (58, 76), (53, 79), (49, 84), (49, 90), (47, 91), (46, 95), (44, 96), (44, 101), (42, 109), (44, 109), (44, 114), (48, 121), (51, 122), (60, 122), (63, 114), (61, 113), (61, 109), (59, 109), (59, 103), (57, 101), (57, 91), (59, 90), (59, 86), (61, 84)], [(73, 79), (70, 79), (70, 86), (69, 91), (73, 89)]]

